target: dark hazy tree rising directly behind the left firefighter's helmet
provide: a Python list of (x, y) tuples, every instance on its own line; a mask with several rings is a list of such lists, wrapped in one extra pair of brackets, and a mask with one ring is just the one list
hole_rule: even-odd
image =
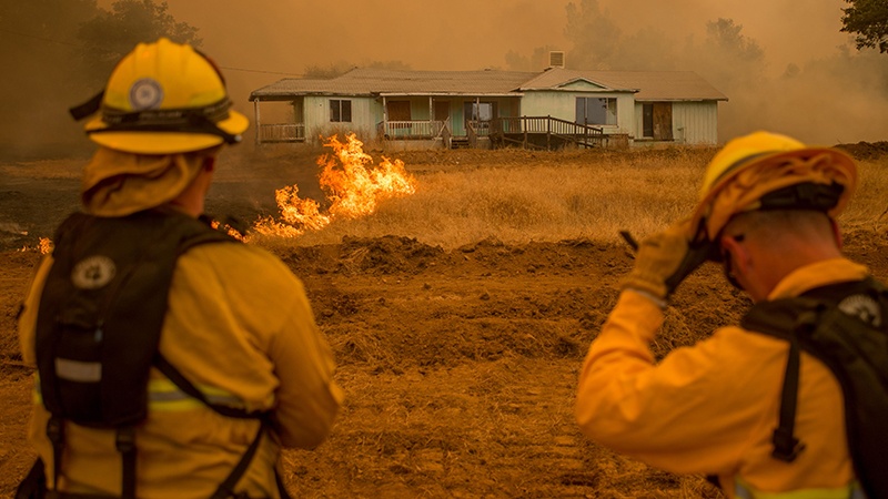
[(111, 11), (101, 10), (82, 23), (78, 39), (83, 45), (81, 55), (88, 61), (91, 77), (103, 82), (113, 65), (137, 43), (160, 37), (200, 47), (202, 40), (198, 37), (198, 28), (176, 22), (168, 9), (165, 1), (117, 0)]

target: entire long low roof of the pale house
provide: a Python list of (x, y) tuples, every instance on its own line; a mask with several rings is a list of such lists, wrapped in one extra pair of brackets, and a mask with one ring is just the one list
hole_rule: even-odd
[(614, 91), (636, 92), (638, 101), (718, 100), (725, 94), (690, 71), (397, 71), (356, 68), (329, 80), (287, 78), (254, 90), (250, 100), (286, 95), (458, 94), (503, 95), (558, 90), (586, 80)]

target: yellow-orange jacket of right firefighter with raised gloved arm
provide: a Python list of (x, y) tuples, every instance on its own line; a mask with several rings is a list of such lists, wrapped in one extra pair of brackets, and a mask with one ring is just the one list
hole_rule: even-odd
[[(845, 258), (820, 262), (786, 276), (769, 299), (866, 275)], [(663, 319), (640, 294), (620, 294), (579, 375), (584, 434), (660, 469), (717, 475), (729, 498), (737, 477), (760, 491), (847, 490), (854, 469), (841, 389), (826, 366), (803, 353), (796, 436), (806, 449), (783, 462), (770, 454), (786, 342), (728, 326), (656, 363), (650, 344)]]

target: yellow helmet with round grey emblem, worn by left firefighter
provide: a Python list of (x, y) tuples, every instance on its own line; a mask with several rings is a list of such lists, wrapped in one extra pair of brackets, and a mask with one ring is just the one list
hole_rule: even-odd
[(120, 60), (104, 92), (71, 110), (75, 119), (101, 109), (85, 131), (118, 151), (172, 154), (240, 142), (246, 116), (231, 110), (215, 64), (186, 44), (161, 38)]

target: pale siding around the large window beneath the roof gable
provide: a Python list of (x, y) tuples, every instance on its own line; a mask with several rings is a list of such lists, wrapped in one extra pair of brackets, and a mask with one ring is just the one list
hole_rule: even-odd
[(552, 116), (566, 121), (576, 120), (576, 98), (615, 98), (617, 100), (616, 126), (602, 126), (604, 133), (627, 133), (635, 130), (635, 100), (625, 92), (571, 92), (527, 91), (521, 103), (525, 116)]

